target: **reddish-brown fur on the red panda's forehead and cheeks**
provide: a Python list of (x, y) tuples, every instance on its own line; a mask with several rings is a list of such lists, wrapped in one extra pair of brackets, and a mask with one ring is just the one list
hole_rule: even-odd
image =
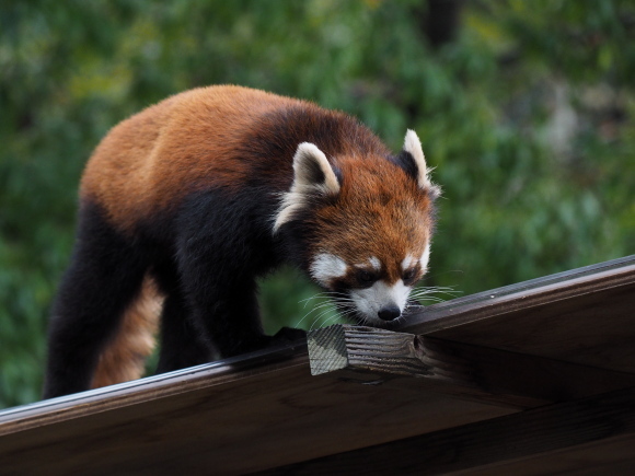
[(385, 158), (343, 158), (335, 163), (344, 176), (338, 204), (354, 206), (318, 210), (312, 254), (328, 252), (360, 265), (360, 258), (374, 256), (388, 268), (386, 282), (396, 282), (405, 256), (420, 257), (430, 239), (432, 223), (424, 213), (431, 207), (428, 195)]

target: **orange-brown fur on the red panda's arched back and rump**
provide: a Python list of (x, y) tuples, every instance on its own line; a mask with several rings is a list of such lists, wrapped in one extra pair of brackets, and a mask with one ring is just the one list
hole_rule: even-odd
[(91, 156), (80, 197), (103, 207), (122, 230), (168, 210), (210, 183), (239, 187), (250, 164), (235, 159), (268, 112), (310, 103), (239, 86), (172, 96), (115, 126)]

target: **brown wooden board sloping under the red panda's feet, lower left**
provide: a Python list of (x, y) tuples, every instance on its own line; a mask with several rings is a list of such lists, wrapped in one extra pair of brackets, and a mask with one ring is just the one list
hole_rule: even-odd
[(515, 411), (312, 376), (305, 344), (0, 414), (0, 473), (245, 474)]

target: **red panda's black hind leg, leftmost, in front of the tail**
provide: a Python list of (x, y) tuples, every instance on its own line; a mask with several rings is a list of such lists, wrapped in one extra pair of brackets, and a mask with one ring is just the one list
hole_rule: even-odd
[(143, 256), (84, 204), (78, 239), (53, 306), (44, 398), (90, 387), (99, 355), (137, 297)]

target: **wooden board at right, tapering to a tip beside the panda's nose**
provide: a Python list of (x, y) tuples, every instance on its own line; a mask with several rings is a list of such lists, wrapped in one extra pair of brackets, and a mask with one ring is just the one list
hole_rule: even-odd
[(635, 373), (635, 256), (455, 299), (397, 330)]

